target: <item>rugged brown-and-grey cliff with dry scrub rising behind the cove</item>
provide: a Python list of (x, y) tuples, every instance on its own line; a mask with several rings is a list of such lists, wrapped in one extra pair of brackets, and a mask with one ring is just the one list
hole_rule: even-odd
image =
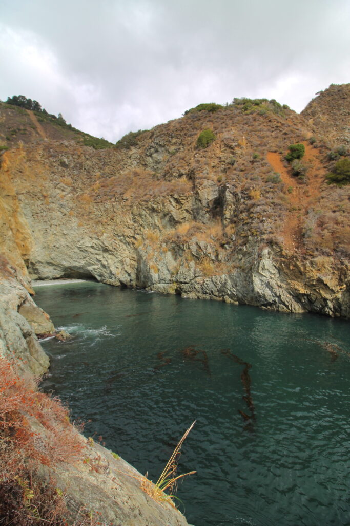
[[(329, 122), (337, 94), (331, 87)], [(200, 147), (204, 130), (210, 140)], [(334, 140), (274, 100), (235, 99), (130, 133), (115, 148), (20, 144), (3, 154), (2, 180), (27, 222), (31, 276), (92, 275), (349, 316), (350, 187), (325, 183), (349, 150)], [(298, 143), (305, 155), (288, 163)]]

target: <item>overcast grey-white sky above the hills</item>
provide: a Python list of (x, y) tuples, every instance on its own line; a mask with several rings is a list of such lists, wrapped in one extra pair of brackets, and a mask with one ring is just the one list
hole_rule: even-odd
[(350, 82), (350, 0), (1, 0), (0, 99), (115, 142), (202, 102)]

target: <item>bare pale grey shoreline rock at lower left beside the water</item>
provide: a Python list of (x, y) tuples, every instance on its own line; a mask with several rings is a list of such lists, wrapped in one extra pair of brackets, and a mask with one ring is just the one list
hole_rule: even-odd
[[(28, 291), (15, 278), (1, 278), (0, 359), (9, 360), (26, 382), (30, 376), (39, 377), (49, 368), (49, 358), (40, 346), (36, 331), (42, 334), (42, 331), (54, 332), (55, 328), (48, 315), (35, 305)], [(40, 403), (46, 403), (45, 399)], [(30, 418), (27, 416), (26, 422), (29, 436), (35, 433), (40, 437), (39, 451), (49, 451), (52, 431), (35, 414)], [(61, 431), (60, 425), (59, 422), (56, 424), (55, 431), (65, 433), (67, 442), (67, 432), (70, 433), (67, 422)], [(86, 439), (74, 428), (71, 432), (75, 447), (81, 451), (79, 456), (69, 461), (61, 455), (62, 460), (53, 464), (44, 461), (36, 476), (43, 484), (54, 481), (56, 494), (61, 492), (64, 495), (72, 517), (77, 516), (79, 510), (94, 510), (98, 513), (98, 522), (91, 518), (91, 524), (187, 525), (184, 516), (173, 505), (155, 502), (141, 489), (145, 479), (128, 462), (92, 439)], [(34, 447), (38, 447), (38, 440)]]

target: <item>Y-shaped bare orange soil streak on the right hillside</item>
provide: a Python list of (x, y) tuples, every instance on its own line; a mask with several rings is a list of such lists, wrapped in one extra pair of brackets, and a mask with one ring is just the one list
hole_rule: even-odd
[(307, 184), (298, 184), (298, 179), (293, 177), (290, 170), (285, 168), (279, 154), (269, 151), (267, 160), (272, 168), (281, 175), (283, 183), (292, 188), (289, 197), (290, 208), (282, 226), (284, 247), (289, 252), (302, 248), (303, 218), (320, 198), (320, 186), (324, 180), (325, 170), (319, 160), (319, 150), (309, 144), (305, 146), (303, 164), (307, 166)]

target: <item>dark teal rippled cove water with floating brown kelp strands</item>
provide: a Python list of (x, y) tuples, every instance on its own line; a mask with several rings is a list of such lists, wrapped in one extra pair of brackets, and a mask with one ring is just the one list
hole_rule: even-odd
[(43, 386), (87, 436), (156, 480), (196, 420), (178, 468), (197, 471), (178, 489), (189, 523), (350, 524), (348, 321), (93, 282), (36, 290), (73, 335), (43, 343)]

